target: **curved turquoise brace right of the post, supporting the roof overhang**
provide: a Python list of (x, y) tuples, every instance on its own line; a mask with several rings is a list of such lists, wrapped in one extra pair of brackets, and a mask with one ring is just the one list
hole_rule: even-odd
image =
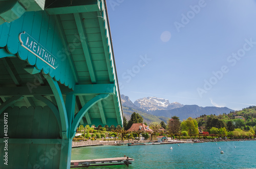
[(71, 126), (71, 138), (73, 138), (76, 134), (76, 128), (80, 122), (80, 120), (82, 119), (82, 117), (84, 116), (84, 114), (86, 114), (86, 112), (88, 112), (88, 110), (95, 105), (96, 103), (98, 103), (99, 101), (108, 98), (110, 94), (99, 94), (97, 96), (95, 96), (93, 99), (91, 99), (89, 102), (87, 102), (82, 108), (81, 110), (76, 114), (76, 117), (72, 123)]

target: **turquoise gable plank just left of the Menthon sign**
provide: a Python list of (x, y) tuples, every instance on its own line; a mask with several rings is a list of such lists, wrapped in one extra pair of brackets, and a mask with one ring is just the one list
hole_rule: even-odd
[(18, 35), (20, 32), (22, 32), (22, 27), (20, 27), (23, 23), (24, 15), (22, 15), (20, 18), (16, 19), (15, 21), (11, 22), (11, 28), (10, 28), (10, 34), (7, 41), (6, 49), (11, 54), (16, 54), (18, 52)]

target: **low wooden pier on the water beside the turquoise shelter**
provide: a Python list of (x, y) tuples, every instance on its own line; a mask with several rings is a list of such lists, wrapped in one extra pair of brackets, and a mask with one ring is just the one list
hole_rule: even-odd
[(108, 165), (127, 165), (132, 164), (133, 158), (115, 157), (115, 158), (101, 158), (91, 160), (71, 160), (70, 168), (89, 167), (89, 166), (108, 166)]

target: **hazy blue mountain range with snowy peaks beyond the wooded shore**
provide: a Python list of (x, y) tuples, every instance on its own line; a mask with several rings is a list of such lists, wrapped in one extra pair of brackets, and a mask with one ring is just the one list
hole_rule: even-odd
[[(139, 101), (142, 100), (143, 102), (139, 102), (138, 100)], [(156, 122), (159, 122), (159, 120), (161, 119), (166, 120), (174, 115), (180, 117), (180, 119), (182, 120), (188, 117), (196, 118), (204, 114), (219, 115), (219, 114), (229, 113), (230, 111), (233, 111), (232, 109), (229, 109), (227, 107), (214, 107), (214, 106), (201, 107), (198, 105), (182, 105), (178, 102), (173, 102), (170, 104), (168, 100), (162, 99), (162, 98), (156, 98), (156, 97), (147, 97), (147, 98), (138, 99), (138, 100), (136, 100), (138, 101), (137, 102), (138, 106), (137, 106), (129, 99), (129, 96), (125, 96), (121, 94), (121, 101), (124, 107), (123, 110), (127, 120), (130, 119), (129, 115), (131, 115), (131, 111), (140, 112), (139, 114), (142, 114), (142, 117), (144, 115), (143, 118), (146, 119), (147, 123), (153, 122), (151, 121), (152, 119), (155, 119)], [(140, 106), (140, 105), (143, 105), (143, 106)], [(178, 106), (174, 108), (175, 105), (178, 105)], [(172, 106), (172, 107), (168, 108), (168, 106)], [(151, 115), (151, 116), (148, 116), (148, 115)], [(165, 120), (164, 122), (166, 122)]]

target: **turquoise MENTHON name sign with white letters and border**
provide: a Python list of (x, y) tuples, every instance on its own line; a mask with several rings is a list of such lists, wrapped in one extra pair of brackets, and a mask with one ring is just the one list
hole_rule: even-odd
[(34, 38), (32, 38), (26, 32), (19, 34), (19, 41), (25, 49), (35, 55), (37, 58), (44, 61), (46, 64), (51, 66), (53, 69), (58, 67), (57, 58), (54, 57), (44, 46), (39, 44)]

